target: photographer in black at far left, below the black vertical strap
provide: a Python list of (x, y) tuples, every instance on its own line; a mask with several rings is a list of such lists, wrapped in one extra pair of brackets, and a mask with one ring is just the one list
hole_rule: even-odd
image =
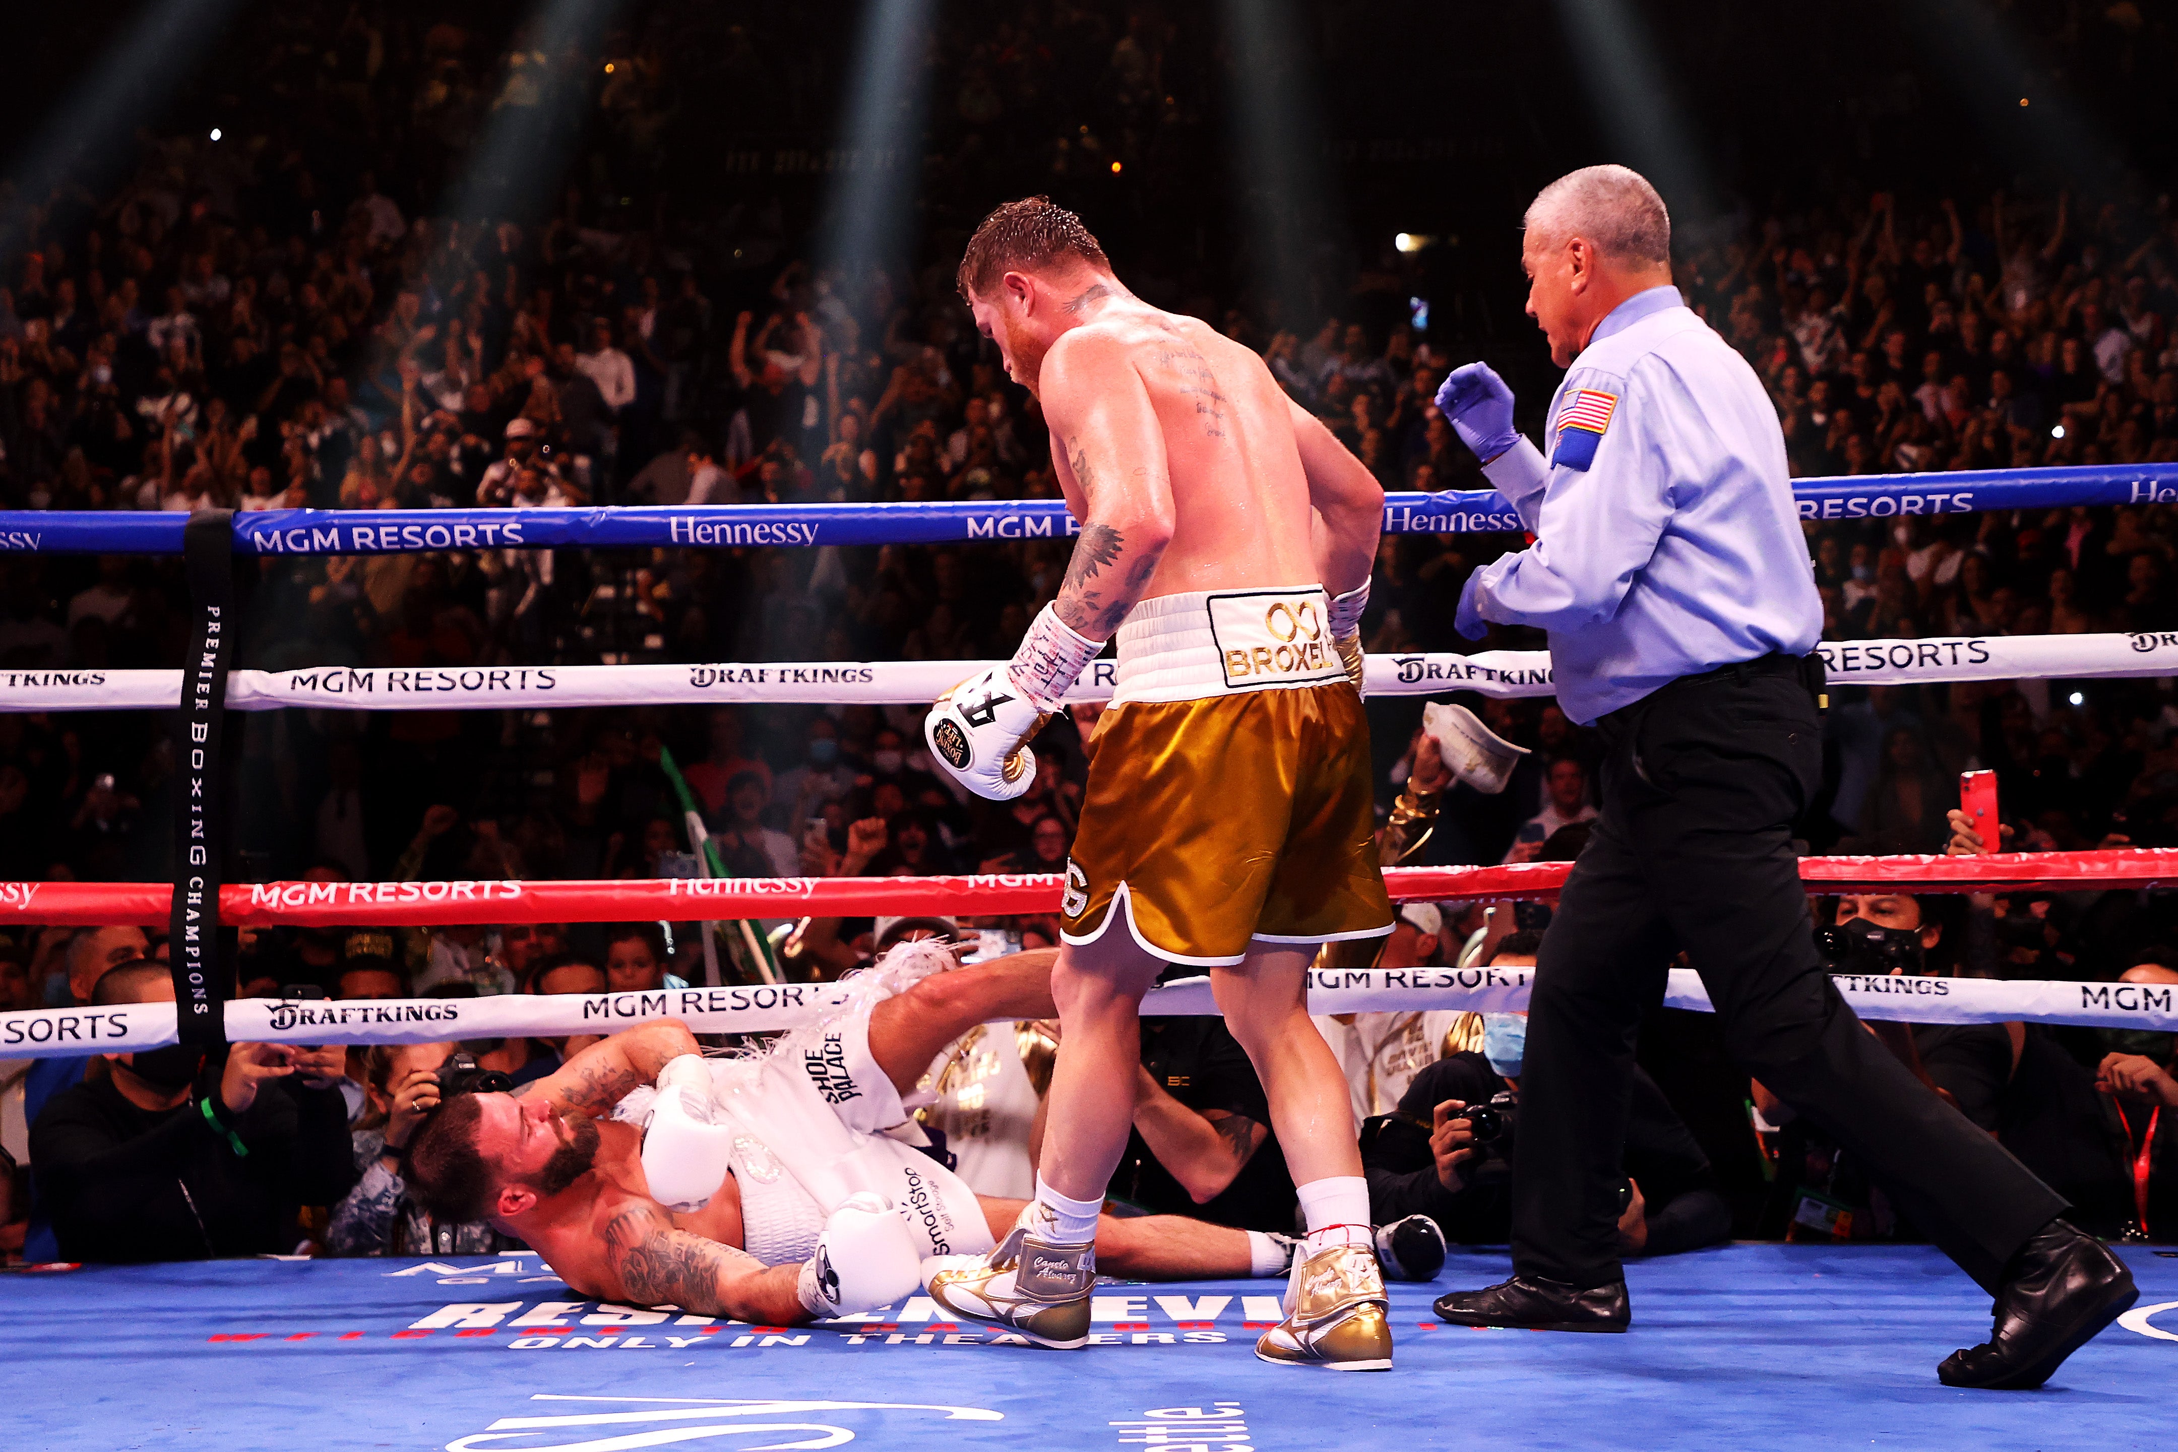
[[(124, 962), (91, 1004), (172, 1004), (163, 962)], [(39, 1199), (65, 1260), (287, 1254), (301, 1206), (338, 1202), (348, 1165), (344, 1049), (237, 1043), (227, 1065), (168, 1045), (102, 1054), (30, 1128)]]

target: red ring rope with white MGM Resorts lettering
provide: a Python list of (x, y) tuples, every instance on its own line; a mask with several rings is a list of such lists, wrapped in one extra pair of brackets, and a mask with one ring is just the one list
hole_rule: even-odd
[[(1394, 866), (1396, 901), (1555, 897), (1566, 862)], [(1810, 890), (1912, 893), (2106, 890), (2178, 886), (2178, 849), (1999, 853), (1989, 858), (1801, 858)], [(616, 923), (865, 914), (982, 916), (1056, 912), (1063, 877), (727, 877), (712, 882), (268, 882), (220, 890), (237, 927), (425, 927), (438, 923)], [(172, 888), (157, 882), (0, 882), (0, 923), (168, 923)]]

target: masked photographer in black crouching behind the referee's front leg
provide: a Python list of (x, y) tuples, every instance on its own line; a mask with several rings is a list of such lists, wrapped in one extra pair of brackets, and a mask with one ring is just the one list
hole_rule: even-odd
[[(1507, 936), (1490, 967), (1535, 964), (1542, 934)], [(1518, 1132), (1520, 1058), (1527, 1014), (1483, 1014), (1483, 1051), (1451, 1054), (1422, 1069), (1394, 1115), (1361, 1128), (1370, 1219), (1429, 1215), (1448, 1241), (1503, 1245), (1512, 1232), (1512, 1143)], [(1468, 1106), (1490, 1106), (1483, 1125)], [(1494, 1134), (1492, 1134), (1494, 1130)], [(1634, 1071), (1627, 1115), (1623, 1256), (1671, 1256), (1732, 1234), (1732, 1208), (1701, 1145), (1664, 1091)]]

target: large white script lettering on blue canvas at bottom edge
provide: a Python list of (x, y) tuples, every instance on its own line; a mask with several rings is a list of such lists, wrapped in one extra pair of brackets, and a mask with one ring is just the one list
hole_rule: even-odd
[[(457, 1437), (446, 1452), (612, 1452), (614, 1448), (666, 1441), (710, 1441), (747, 1448), (836, 1448), (858, 1430), (891, 1430), (926, 1422), (1004, 1422), (1004, 1413), (982, 1406), (923, 1402), (834, 1402), (786, 1398), (588, 1398), (540, 1391), (531, 1402), (549, 1402), (538, 1415), (499, 1417), (481, 1432)], [(640, 1430), (649, 1424), (649, 1430)], [(741, 1437), (747, 1441), (741, 1441)], [(908, 1432), (934, 1441), (928, 1430)]]

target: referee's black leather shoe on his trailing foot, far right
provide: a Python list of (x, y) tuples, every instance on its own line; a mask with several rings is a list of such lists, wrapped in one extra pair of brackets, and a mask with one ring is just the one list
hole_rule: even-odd
[(1997, 1289), (1995, 1332), (1936, 1367), (1945, 1387), (2028, 1391), (2141, 1297), (2110, 1250), (2054, 1219), (2019, 1247)]

